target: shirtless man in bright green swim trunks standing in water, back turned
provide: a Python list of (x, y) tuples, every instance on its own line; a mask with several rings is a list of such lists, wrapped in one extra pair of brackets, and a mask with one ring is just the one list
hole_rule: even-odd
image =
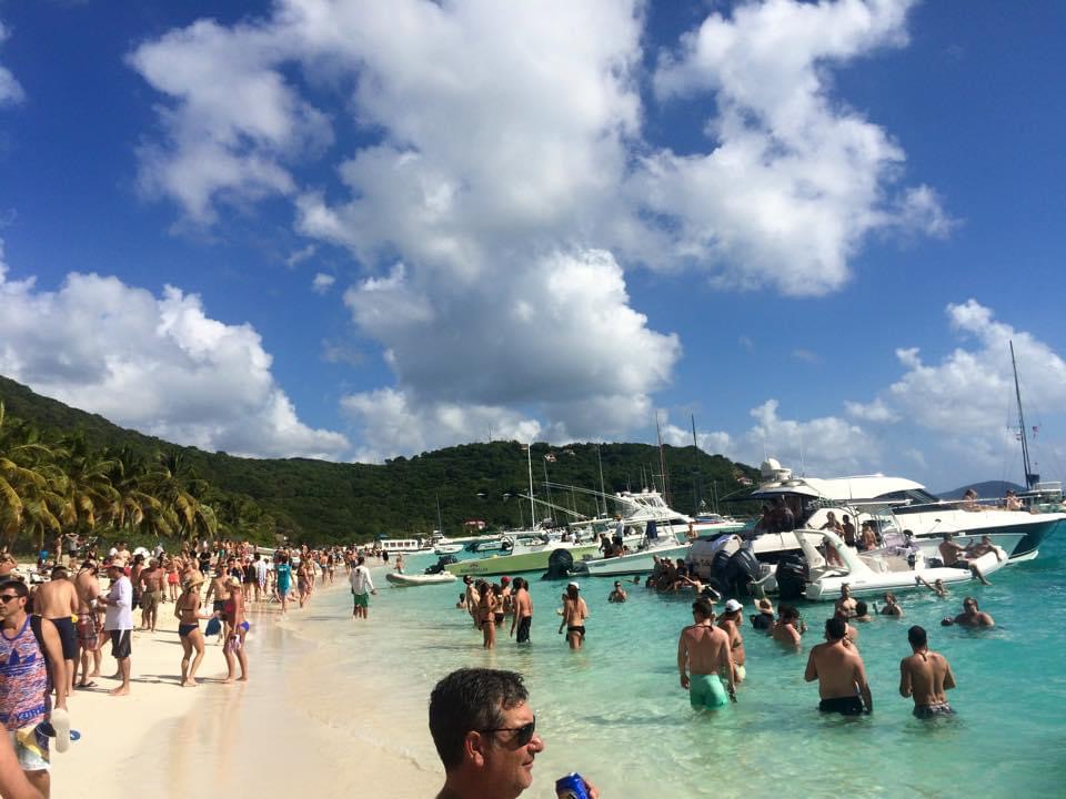
[[(688, 691), (693, 709), (713, 710), (730, 699), (736, 701), (730, 635), (714, 626), (714, 606), (707, 599), (696, 599), (692, 604), (692, 617), (695, 623), (685, 627), (677, 639), (681, 687)], [(728, 685), (728, 699), (722, 680)]]

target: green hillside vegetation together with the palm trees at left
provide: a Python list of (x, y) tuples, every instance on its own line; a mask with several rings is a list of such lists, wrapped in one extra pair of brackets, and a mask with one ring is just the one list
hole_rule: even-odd
[[(611, 512), (607, 494), (662, 488), (672, 504), (744, 512), (751, 467), (695, 446), (490, 442), (384, 464), (258, 459), (180, 447), (39, 396), (0, 377), (0, 543), (23, 549), (60, 534), (153, 545), (225, 537), (272, 544), (461, 535), (484, 523)], [(46, 548), (50, 548), (46, 546)]]

